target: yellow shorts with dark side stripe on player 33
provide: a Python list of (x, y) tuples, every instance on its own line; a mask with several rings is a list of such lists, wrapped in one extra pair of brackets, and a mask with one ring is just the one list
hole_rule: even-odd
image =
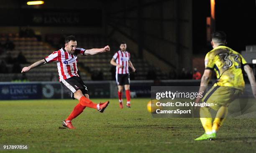
[(218, 110), (221, 106), (228, 107), (242, 93), (242, 90), (233, 87), (214, 86), (205, 94), (202, 102), (213, 104), (211, 108)]

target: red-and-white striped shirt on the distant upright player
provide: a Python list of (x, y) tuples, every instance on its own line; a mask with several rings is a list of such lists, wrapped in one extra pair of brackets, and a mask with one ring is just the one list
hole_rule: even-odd
[(119, 68), (116, 66), (115, 73), (117, 74), (128, 74), (129, 73), (129, 60), (130, 60), (130, 53), (128, 51), (118, 51), (114, 54), (113, 58), (115, 62), (119, 65), (123, 65), (123, 68)]

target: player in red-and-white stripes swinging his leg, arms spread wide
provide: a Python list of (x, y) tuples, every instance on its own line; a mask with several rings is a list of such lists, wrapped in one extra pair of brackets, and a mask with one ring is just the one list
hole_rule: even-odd
[(62, 125), (68, 127), (69, 129), (74, 129), (71, 121), (80, 115), (85, 107), (90, 107), (97, 109), (99, 112), (104, 112), (105, 108), (108, 106), (109, 101), (95, 104), (89, 99), (89, 94), (87, 87), (85, 86), (82, 79), (77, 74), (77, 56), (80, 55), (94, 55), (102, 52), (110, 51), (109, 46), (104, 48), (93, 48), (93, 49), (83, 49), (77, 48), (77, 41), (74, 36), (68, 36), (65, 38), (65, 47), (59, 49), (59, 51), (54, 51), (51, 55), (46, 58), (35, 62), (34, 64), (24, 67), (21, 73), (25, 73), (30, 69), (35, 67), (48, 64), (51, 62), (56, 62), (59, 72), (59, 81), (64, 91), (66, 91), (72, 99), (79, 100), (79, 103), (74, 107), (74, 110), (63, 121)]

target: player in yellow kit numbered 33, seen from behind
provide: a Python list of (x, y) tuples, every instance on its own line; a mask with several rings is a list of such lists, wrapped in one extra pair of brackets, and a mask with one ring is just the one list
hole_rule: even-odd
[[(212, 34), (212, 48), (205, 56), (205, 71), (201, 79), (199, 93), (205, 92), (211, 79), (212, 71), (216, 72), (218, 82), (205, 94), (202, 102), (213, 103), (212, 107), (200, 107), (200, 120), (205, 134), (195, 140), (212, 140), (223, 124), (228, 114), (228, 105), (242, 94), (245, 86), (242, 69), (248, 75), (253, 96), (256, 97), (256, 82), (253, 70), (238, 52), (226, 47), (226, 34), (215, 32)], [(197, 98), (199, 102), (201, 98)], [(212, 123), (210, 109), (217, 111)]]

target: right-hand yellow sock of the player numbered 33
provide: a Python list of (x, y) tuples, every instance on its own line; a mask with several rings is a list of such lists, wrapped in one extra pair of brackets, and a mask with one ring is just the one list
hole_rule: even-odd
[(212, 132), (216, 133), (228, 114), (228, 107), (220, 107), (213, 121)]

